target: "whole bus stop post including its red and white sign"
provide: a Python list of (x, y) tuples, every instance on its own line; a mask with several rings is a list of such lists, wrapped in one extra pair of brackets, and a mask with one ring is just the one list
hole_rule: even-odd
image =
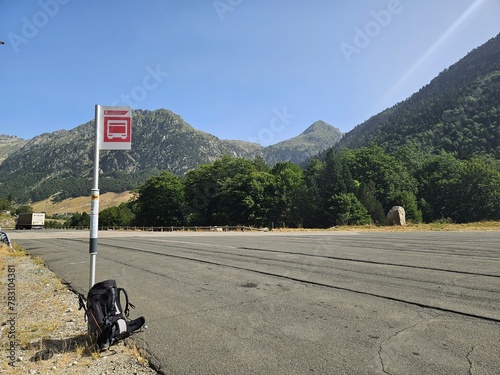
[(99, 151), (130, 150), (132, 109), (130, 107), (95, 106), (94, 183), (90, 200), (90, 277), (89, 289), (95, 284), (97, 238), (99, 231)]

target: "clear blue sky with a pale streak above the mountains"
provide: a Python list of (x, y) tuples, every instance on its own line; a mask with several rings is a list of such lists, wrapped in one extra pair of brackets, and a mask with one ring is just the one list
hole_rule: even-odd
[(316, 120), (347, 132), (499, 19), (499, 0), (0, 0), (0, 134), (72, 129), (95, 104), (263, 145)]

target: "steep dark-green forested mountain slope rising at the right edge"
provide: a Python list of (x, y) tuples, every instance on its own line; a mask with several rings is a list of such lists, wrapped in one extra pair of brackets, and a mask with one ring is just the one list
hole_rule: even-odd
[(392, 151), (416, 144), (459, 158), (500, 157), (500, 34), (441, 72), (428, 85), (348, 132), (340, 146), (376, 143)]

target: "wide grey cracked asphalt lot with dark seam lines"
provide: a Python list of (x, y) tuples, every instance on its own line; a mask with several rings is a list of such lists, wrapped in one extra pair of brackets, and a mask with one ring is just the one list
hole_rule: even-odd
[[(9, 236), (87, 292), (88, 233)], [(499, 373), (499, 232), (99, 237), (160, 373)]]

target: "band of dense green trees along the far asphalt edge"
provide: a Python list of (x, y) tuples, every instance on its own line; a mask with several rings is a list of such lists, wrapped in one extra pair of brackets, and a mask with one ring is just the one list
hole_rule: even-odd
[(500, 162), (428, 155), (405, 146), (329, 150), (298, 166), (225, 156), (184, 176), (164, 171), (134, 199), (103, 210), (101, 226), (328, 228), (383, 224), (403, 206), (414, 223), (500, 220)]

